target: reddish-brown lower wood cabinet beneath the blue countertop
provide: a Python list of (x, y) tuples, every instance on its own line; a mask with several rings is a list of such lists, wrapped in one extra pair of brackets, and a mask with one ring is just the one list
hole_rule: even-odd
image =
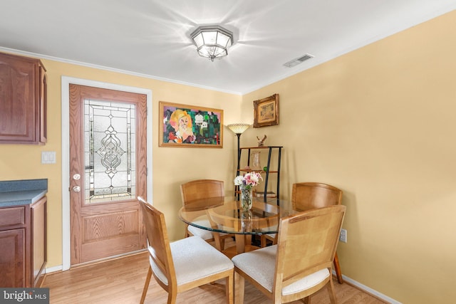
[(0, 286), (39, 286), (46, 266), (46, 196), (0, 208)]

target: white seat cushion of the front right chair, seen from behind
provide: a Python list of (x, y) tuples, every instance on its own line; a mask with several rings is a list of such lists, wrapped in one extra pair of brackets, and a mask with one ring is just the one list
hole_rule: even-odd
[[(276, 266), (277, 245), (261, 248), (255, 251), (238, 254), (232, 258), (234, 266), (247, 273), (261, 286), (272, 293), (274, 285), (274, 270)], [(309, 276), (301, 278), (282, 290), (282, 295), (299, 293), (321, 283), (329, 276), (328, 268), (316, 271)]]

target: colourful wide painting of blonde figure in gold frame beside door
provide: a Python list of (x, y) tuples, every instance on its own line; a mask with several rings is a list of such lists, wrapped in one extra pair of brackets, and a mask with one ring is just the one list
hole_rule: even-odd
[(160, 101), (160, 147), (223, 147), (223, 110)]

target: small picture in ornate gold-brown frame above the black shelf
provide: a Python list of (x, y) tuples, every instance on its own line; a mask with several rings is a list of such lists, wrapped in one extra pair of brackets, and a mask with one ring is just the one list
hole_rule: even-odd
[(254, 100), (254, 127), (279, 125), (279, 94)]

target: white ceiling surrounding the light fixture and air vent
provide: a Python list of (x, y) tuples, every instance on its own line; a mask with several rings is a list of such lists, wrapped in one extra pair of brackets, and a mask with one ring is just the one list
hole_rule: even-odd
[[(0, 0), (0, 49), (245, 94), (456, 9), (456, 0)], [(189, 36), (234, 32), (228, 56)], [(294, 68), (284, 63), (309, 53)]]

